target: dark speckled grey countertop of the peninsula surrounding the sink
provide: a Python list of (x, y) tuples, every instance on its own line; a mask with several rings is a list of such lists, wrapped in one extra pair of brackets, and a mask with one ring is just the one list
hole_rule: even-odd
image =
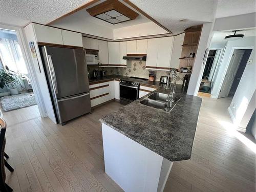
[[(159, 88), (154, 92), (166, 90)], [(181, 99), (170, 113), (165, 113), (139, 103), (146, 96), (100, 121), (170, 161), (190, 159), (202, 99), (186, 95), (177, 85), (175, 96)]]

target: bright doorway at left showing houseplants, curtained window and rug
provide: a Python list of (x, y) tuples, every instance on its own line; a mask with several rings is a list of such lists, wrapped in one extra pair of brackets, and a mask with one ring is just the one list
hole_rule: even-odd
[(23, 108), (29, 108), (22, 110), (23, 115), (28, 112), (24, 118), (40, 116), (25, 60), (16, 31), (0, 28), (1, 117)]

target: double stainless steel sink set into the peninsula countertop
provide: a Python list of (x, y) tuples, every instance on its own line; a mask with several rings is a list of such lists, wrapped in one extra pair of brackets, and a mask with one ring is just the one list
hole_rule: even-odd
[(172, 111), (179, 99), (180, 98), (177, 97), (173, 98), (172, 106), (168, 107), (168, 94), (156, 92), (141, 100), (140, 103), (169, 113)]

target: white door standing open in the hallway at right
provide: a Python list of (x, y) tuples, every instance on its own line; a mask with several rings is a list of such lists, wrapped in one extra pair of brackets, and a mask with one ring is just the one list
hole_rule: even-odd
[(236, 76), (236, 73), (238, 71), (238, 68), (239, 68), (239, 65), (242, 60), (243, 55), (244, 55), (244, 50), (239, 50), (239, 49), (234, 50), (231, 60), (229, 62), (227, 73), (226, 73), (224, 81), (222, 83), (221, 92), (220, 92), (218, 98), (228, 96), (229, 91), (232, 86), (232, 83), (233, 83), (233, 80), (234, 80), (234, 77)]

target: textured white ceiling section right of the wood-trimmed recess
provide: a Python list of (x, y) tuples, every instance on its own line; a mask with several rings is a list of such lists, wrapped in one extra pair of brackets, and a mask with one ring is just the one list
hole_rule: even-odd
[[(216, 0), (130, 0), (137, 7), (156, 19), (173, 33), (212, 22), (215, 15)], [(180, 22), (180, 19), (188, 19)]]

